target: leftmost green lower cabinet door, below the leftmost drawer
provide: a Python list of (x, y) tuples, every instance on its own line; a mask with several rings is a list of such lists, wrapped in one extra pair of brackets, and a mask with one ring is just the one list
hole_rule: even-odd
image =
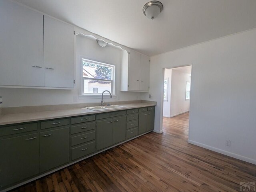
[(39, 173), (39, 133), (0, 140), (0, 190)]

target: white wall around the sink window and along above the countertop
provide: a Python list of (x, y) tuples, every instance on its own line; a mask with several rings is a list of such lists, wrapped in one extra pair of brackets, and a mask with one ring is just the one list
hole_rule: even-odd
[[(76, 28), (84, 34), (92, 34), (84, 29)], [(99, 36), (95, 35), (97, 38)], [(104, 38), (101, 38), (104, 39)], [(73, 104), (73, 103), (89, 103), (99, 102), (101, 96), (94, 98), (79, 99), (79, 55), (86, 56), (96, 61), (102, 61), (116, 65), (116, 98), (106, 96), (106, 102), (121, 100), (140, 100), (140, 92), (120, 92), (120, 71), (122, 62), (121, 49), (111, 46), (100, 47), (96, 40), (77, 35), (75, 38), (77, 43), (77, 62), (76, 62), (76, 87), (74, 90), (52, 90), (52, 89), (30, 89), (30, 88), (0, 88), (0, 96), (3, 96), (3, 104), (0, 107), (18, 107), (18, 106), (40, 106), (52, 104)], [(109, 40), (106, 40), (111, 42)], [(115, 43), (116, 44), (116, 43)], [(122, 46), (123, 47), (123, 46)], [(104, 96), (105, 97), (105, 96)], [(74, 102), (76, 101), (77, 102)]]

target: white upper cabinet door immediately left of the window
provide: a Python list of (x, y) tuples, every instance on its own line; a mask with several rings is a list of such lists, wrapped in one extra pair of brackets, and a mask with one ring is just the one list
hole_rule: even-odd
[(74, 88), (74, 27), (44, 16), (44, 86)]

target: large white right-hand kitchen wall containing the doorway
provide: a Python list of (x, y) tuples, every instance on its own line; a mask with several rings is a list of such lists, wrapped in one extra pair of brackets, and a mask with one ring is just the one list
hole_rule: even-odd
[(189, 142), (256, 164), (255, 39), (253, 29), (151, 57), (155, 131), (162, 131), (163, 68), (192, 64)]

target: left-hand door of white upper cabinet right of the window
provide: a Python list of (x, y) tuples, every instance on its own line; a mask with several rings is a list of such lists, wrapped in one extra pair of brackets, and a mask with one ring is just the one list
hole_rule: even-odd
[(128, 84), (129, 91), (140, 90), (140, 54), (135, 51), (129, 54)]

